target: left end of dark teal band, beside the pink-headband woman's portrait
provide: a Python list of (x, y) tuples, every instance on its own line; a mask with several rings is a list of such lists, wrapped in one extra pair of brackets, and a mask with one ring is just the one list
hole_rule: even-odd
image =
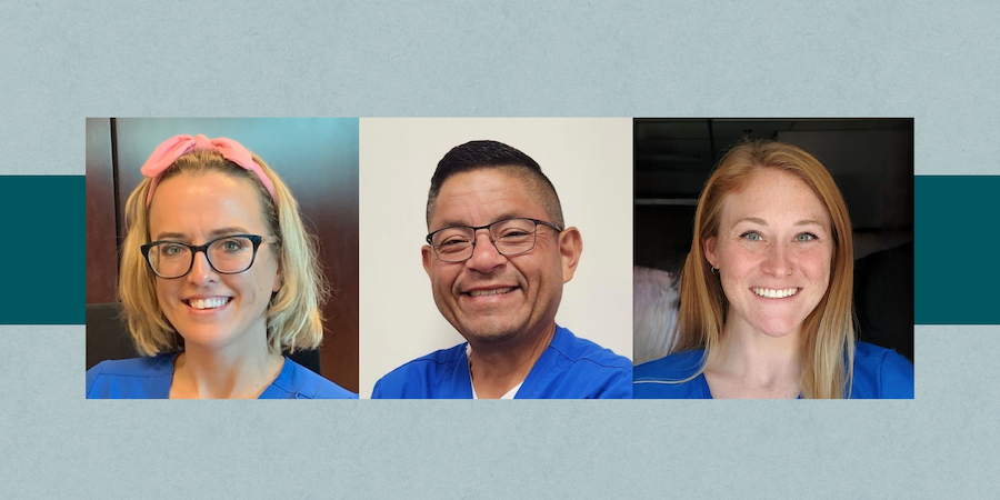
[(83, 176), (0, 176), (0, 324), (83, 324)]

